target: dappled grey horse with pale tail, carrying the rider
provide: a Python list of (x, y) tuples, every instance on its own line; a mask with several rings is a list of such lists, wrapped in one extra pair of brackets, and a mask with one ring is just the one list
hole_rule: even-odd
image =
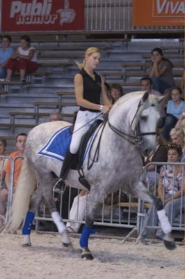
[[(175, 248), (171, 226), (161, 199), (154, 197), (141, 181), (143, 172), (141, 154), (148, 156), (156, 147), (156, 125), (160, 119), (159, 110), (162, 101), (163, 97), (152, 96), (143, 91), (128, 93), (113, 105), (104, 128), (103, 126), (100, 129), (97, 128), (97, 137), (95, 137), (95, 142), (91, 148), (90, 158), (93, 158), (97, 142), (102, 134), (98, 161), (90, 169), (88, 169), (88, 156), (83, 163), (83, 172), (91, 189), (88, 198), (86, 225), (83, 227), (80, 239), (81, 257), (93, 259), (93, 255), (88, 249), (88, 238), (93, 233), (92, 227), (97, 204), (103, 201), (104, 196), (119, 188), (124, 188), (129, 193), (156, 206), (161, 227), (165, 233), (163, 241), (168, 249)], [(70, 123), (65, 121), (42, 123), (33, 128), (27, 137), (24, 161), (17, 181), (11, 216), (4, 231), (15, 231), (22, 224), (26, 212), (29, 210), (33, 216), (29, 216), (29, 219), (28, 215), (26, 216), (26, 225), (24, 224), (23, 229), (24, 244), (28, 246), (31, 245), (29, 239), (31, 227), (29, 226), (34, 218), (35, 209), (42, 198), (51, 211), (51, 217), (58, 232), (63, 235), (63, 244), (70, 245), (66, 227), (56, 211), (52, 199), (54, 186), (52, 173), (54, 172), (59, 176), (62, 163), (53, 158), (38, 156), (38, 151), (42, 149), (51, 135), (69, 125)], [(35, 190), (36, 179), (39, 181), (37, 190)], [(74, 188), (84, 189), (79, 183), (77, 170), (70, 170), (66, 177), (66, 183)]]

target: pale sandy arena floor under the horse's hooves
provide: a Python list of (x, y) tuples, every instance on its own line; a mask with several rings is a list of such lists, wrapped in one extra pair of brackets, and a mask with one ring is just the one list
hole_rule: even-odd
[(184, 279), (184, 246), (166, 250), (163, 243), (144, 246), (118, 239), (92, 238), (95, 259), (81, 259), (79, 239), (63, 248), (58, 234), (31, 234), (30, 248), (22, 236), (0, 234), (1, 279)]

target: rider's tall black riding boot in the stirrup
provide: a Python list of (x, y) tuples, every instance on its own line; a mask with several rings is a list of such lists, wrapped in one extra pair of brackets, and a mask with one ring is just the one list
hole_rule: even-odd
[(60, 179), (56, 182), (56, 184), (53, 188), (54, 192), (57, 192), (57, 193), (63, 192), (63, 188), (65, 186), (65, 178), (72, 165), (72, 160), (74, 158), (74, 155), (75, 154), (70, 153), (70, 150), (67, 150), (64, 161), (63, 161), (63, 166), (61, 169)]

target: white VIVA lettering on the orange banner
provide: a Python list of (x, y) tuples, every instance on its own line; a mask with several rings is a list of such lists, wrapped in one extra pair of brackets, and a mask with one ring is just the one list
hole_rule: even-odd
[(153, 17), (184, 17), (184, 1), (152, 0)]

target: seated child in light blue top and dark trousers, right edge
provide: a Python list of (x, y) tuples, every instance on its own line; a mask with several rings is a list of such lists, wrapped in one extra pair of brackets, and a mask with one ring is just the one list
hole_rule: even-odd
[(163, 137), (165, 140), (170, 140), (170, 130), (175, 127), (179, 116), (184, 111), (184, 100), (182, 100), (182, 89), (174, 87), (171, 90), (172, 100), (168, 100), (167, 116), (163, 126)]

